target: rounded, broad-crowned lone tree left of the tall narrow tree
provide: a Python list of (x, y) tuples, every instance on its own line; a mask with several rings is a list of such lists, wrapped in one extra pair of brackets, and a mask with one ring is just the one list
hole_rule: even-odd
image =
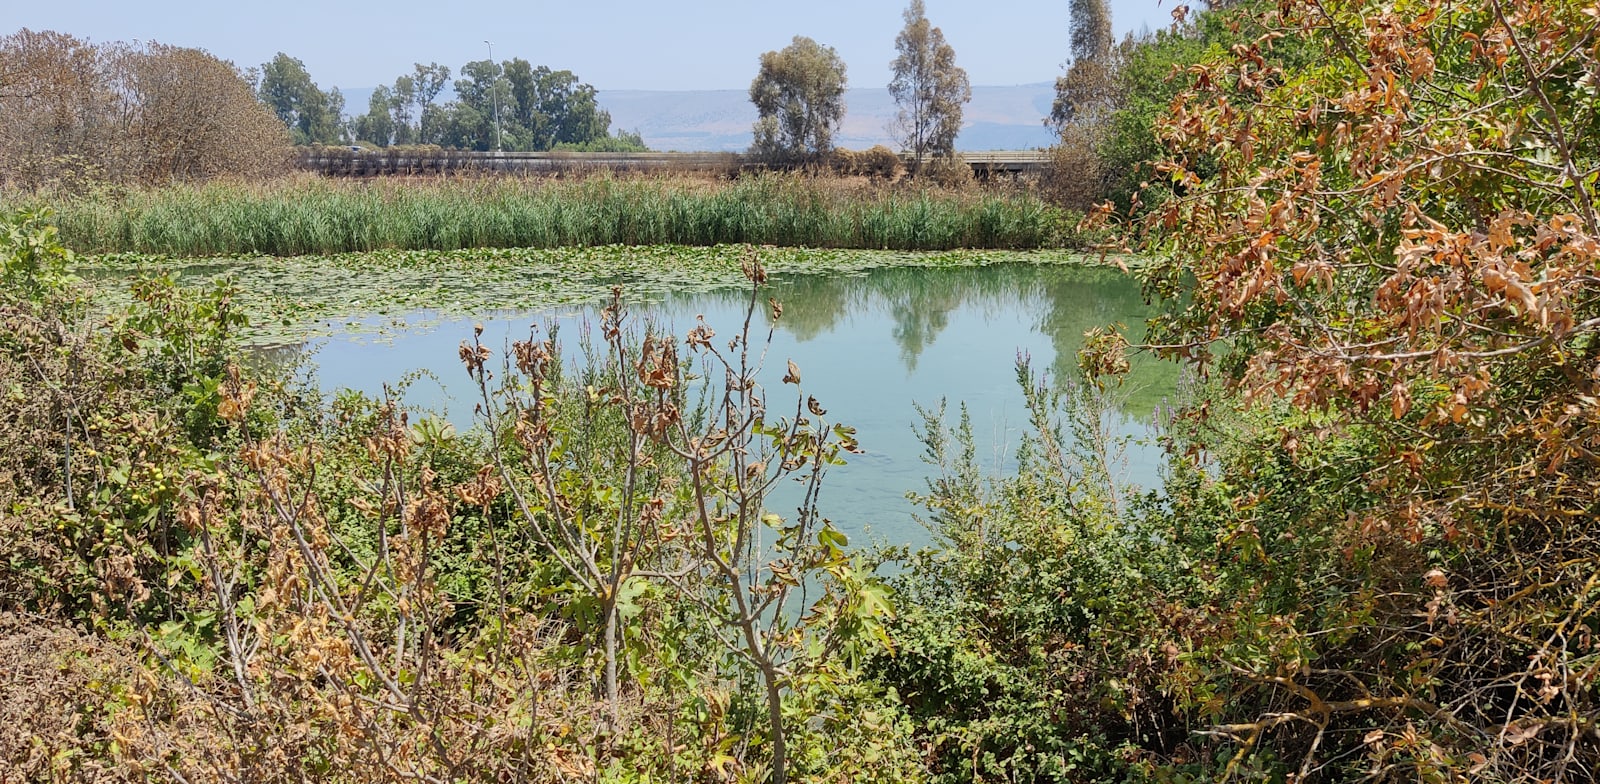
[(832, 46), (795, 35), (794, 43), (762, 54), (750, 82), (755, 142), (750, 150), (779, 160), (818, 157), (834, 149), (845, 118), (845, 61)]

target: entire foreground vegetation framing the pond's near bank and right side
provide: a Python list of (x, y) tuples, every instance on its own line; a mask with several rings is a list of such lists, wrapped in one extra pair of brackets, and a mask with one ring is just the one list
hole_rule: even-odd
[(1019, 368), (1034, 435), (1006, 477), (928, 411), (946, 547), (888, 584), (810, 502), (763, 509), (858, 445), (803, 368), (747, 382), (750, 326), (611, 309), (582, 366), (549, 336), (504, 358), (464, 336), (486, 422), (461, 435), (253, 378), (226, 290), (146, 282), (90, 315), (54, 230), (11, 218), (0, 758), (99, 781), (1594, 781), (1600, 18), (1283, 0), (1195, 30), (1218, 38), (1130, 54), (1182, 66), (1104, 114), (1149, 122), (1160, 184), (1096, 213), (1150, 253), (1147, 349), (1195, 371), (1163, 486), (1114, 482), (1101, 411), (1131, 347), (1096, 331), (1077, 387)]

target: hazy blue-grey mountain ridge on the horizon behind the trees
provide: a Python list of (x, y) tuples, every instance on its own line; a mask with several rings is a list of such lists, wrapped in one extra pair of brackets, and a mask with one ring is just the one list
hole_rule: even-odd
[[(342, 90), (344, 110), (366, 112), (373, 88)], [(453, 96), (446, 88), (438, 101)], [(611, 130), (638, 131), (653, 150), (744, 152), (750, 146), (755, 106), (744, 90), (600, 90), (600, 107), (611, 112)], [(1054, 85), (974, 86), (962, 114), (960, 150), (1029, 150), (1056, 142), (1043, 118), (1050, 115)], [(845, 123), (834, 139), (840, 147), (896, 147), (888, 133), (894, 99), (886, 88), (845, 93)]]

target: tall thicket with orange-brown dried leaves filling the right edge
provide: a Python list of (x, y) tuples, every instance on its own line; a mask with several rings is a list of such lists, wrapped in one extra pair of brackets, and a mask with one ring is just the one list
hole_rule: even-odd
[[(1219, 544), (1261, 570), (1230, 598), (1261, 622), (1213, 654), (1206, 731), (1235, 771), (1592, 781), (1600, 18), (1254, 24), (1173, 101), (1179, 195), (1150, 216), (1147, 286), (1182, 296), (1154, 341), (1296, 411), (1224, 462)], [(1323, 56), (1286, 67), (1280, 38)]]

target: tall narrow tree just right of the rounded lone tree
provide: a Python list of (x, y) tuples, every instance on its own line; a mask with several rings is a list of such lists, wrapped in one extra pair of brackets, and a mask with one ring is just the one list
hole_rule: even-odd
[(955, 50), (944, 30), (928, 24), (922, 0), (906, 8), (906, 27), (894, 38), (899, 56), (890, 62), (890, 94), (899, 104), (899, 142), (914, 155), (912, 174), (926, 155), (950, 155), (962, 131), (962, 104), (973, 99), (966, 70), (955, 66)]

